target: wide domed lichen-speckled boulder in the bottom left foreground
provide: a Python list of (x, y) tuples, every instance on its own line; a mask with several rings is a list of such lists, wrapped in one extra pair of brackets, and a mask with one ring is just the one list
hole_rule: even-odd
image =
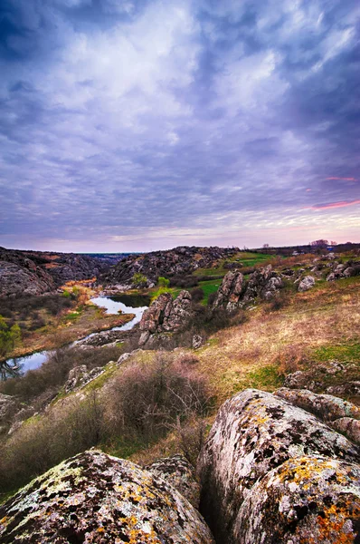
[(166, 481), (95, 451), (63, 461), (2, 505), (0, 540), (213, 544), (200, 514)]

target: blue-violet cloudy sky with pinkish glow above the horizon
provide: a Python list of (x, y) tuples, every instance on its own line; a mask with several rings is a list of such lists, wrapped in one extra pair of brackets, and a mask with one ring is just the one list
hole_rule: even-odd
[(1, 0), (0, 245), (360, 241), (358, 0)]

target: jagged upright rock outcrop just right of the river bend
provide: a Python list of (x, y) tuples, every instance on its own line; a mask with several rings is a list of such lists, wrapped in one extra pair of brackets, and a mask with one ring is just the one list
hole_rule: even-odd
[(193, 317), (192, 296), (181, 291), (173, 300), (171, 293), (163, 293), (147, 308), (141, 317), (139, 345), (147, 343), (151, 335), (171, 333), (185, 327)]

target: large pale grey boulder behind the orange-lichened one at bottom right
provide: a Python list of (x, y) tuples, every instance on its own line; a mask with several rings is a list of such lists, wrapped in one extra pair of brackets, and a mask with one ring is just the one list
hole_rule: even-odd
[[(242, 541), (247, 544), (279, 542), (281, 540), (272, 539), (271, 536), (264, 540), (260, 537), (254, 537), (253, 540), (238, 539), (238, 535), (247, 530), (242, 520), (249, 518), (249, 510), (246, 510), (245, 515), (242, 507), (244, 501), (249, 500), (257, 489), (254, 488), (255, 483), (261, 486), (261, 493), (266, 498), (264, 478), (270, 471), (278, 467), (280, 470), (286, 461), (299, 467), (300, 459), (304, 457), (320, 456), (327, 458), (327, 461), (358, 462), (359, 455), (360, 449), (355, 444), (319, 422), (315, 416), (270, 393), (246, 390), (223, 404), (200, 456), (201, 508), (205, 519), (217, 541), (222, 544)], [(293, 486), (289, 487), (289, 491), (291, 489)], [(339, 490), (338, 494), (341, 492)], [(305, 495), (308, 496), (307, 493)], [(325, 497), (322, 500), (326, 500)], [(336, 516), (340, 515), (336, 504), (329, 502), (329, 508), (332, 505), (333, 510), (329, 510), (328, 516), (331, 511)], [(247, 506), (244, 508), (248, 509)], [(347, 503), (344, 503), (343, 508), (346, 520), (352, 520), (353, 514)], [(316, 511), (322, 515), (322, 510)], [(255, 511), (251, 513), (254, 523), (256, 515)], [(271, 510), (264, 511), (263, 515), (270, 517)], [(274, 516), (279, 516), (279, 512), (275, 511)], [(296, 520), (296, 516), (293, 513), (289, 522)], [(324, 523), (330, 523), (328, 516), (325, 515)], [(283, 522), (288, 523), (286, 518)], [(349, 534), (355, 534), (350, 521), (346, 527), (349, 528)], [(293, 540), (294, 543), (309, 541), (306, 533), (301, 531), (297, 538)]]

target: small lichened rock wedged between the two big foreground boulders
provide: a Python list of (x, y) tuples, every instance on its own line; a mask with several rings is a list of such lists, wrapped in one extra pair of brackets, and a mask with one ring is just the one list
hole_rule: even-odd
[(183, 455), (158, 459), (145, 468), (175, 487), (175, 490), (191, 502), (194, 508), (199, 508), (200, 485), (196, 479), (194, 467)]

